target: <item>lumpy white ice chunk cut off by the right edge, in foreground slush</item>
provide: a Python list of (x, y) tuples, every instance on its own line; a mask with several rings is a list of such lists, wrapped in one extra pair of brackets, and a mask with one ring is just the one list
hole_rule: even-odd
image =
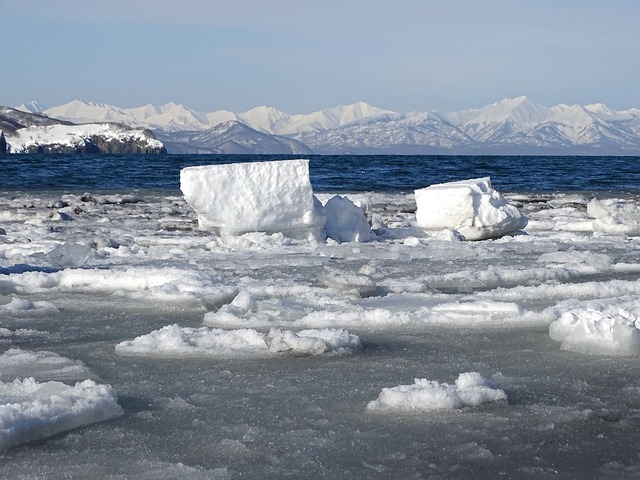
[(563, 313), (549, 325), (560, 348), (589, 355), (640, 355), (640, 320), (629, 311), (592, 308)]

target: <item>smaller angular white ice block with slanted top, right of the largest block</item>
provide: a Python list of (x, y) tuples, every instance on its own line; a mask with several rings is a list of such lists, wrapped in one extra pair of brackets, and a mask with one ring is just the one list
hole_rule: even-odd
[(527, 218), (491, 188), (489, 177), (431, 185), (415, 196), (417, 223), (429, 232), (448, 228), (466, 240), (483, 240), (527, 225)]

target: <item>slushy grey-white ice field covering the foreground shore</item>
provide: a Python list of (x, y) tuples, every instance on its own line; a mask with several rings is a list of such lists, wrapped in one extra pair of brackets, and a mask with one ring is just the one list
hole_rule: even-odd
[(0, 192), (0, 477), (640, 477), (639, 198), (506, 195), (469, 242), (343, 193), (372, 241)]

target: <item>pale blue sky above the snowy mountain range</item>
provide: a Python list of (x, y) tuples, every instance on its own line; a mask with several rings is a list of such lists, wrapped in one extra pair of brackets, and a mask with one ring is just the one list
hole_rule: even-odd
[(0, 0), (0, 105), (640, 108), (638, 0)]

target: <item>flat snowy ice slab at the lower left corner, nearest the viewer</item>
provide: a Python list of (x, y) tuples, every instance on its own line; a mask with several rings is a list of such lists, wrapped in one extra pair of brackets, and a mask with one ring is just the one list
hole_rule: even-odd
[(0, 450), (122, 415), (109, 385), (75, 386), (33, 378), (0, 382)]

